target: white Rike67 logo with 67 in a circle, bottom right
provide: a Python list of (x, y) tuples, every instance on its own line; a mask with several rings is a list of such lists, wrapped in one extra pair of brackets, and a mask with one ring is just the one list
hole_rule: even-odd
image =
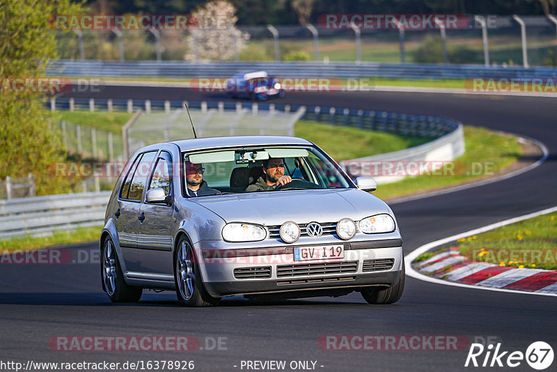
[(472, 343), (464, 366), (505, 366), (514, 368), (520, 366), (526, 360), (526, 363), (533, 369), (541, 371), (551, 366), (553, 359), (553, 348), (544, 341), (532, 343), (528, 346), (525, 353), (521, 351), (503, 351), (501, 350), (501, 343), (497, 343), (495, 346), (490, 343), (487, 347), (481, 343)]

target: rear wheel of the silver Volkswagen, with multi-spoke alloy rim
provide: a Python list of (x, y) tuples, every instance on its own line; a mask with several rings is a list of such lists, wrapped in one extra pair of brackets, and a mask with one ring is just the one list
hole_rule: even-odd
[(112, 302), (138, 302), (143, 294), (143, 288), (126, 284), (111, 238), (102, 245), (101, 276), (104, 291)]

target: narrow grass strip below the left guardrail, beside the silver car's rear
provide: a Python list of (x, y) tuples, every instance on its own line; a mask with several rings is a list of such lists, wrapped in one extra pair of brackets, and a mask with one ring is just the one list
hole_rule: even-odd
[(100, 238), (102, 226), (78, 227), (72, 231), (54, 231), (52, 235), (33, 237), (25, 235), (19, 238), (4, 240), (0, 250), (41, 249), (53, 245), (67, 245), (81, 242), (92, 242)]

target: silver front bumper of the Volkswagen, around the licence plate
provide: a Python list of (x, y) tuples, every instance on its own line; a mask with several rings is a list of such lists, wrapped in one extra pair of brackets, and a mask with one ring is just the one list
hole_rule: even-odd
[[(201, 243), (201, 242), (200, 242)], [(402, 240), (371, 240), (367, 242), (341, 243), (345, 247), (344, 258), (335, 261), (293, 261), (293, 245), (287, 247), (269, 247), (257, 249), (235, 249), (230, 251), (210, 250), (199, 247), (198, 256), (205, 289), (214, 297), (227, 295), (246, 295), (262, 293), (283, 293), (302, 290), (361, 288), (364, 286), (393, 286), (400, 277), (402, 268)], [(303, 245), (296, 245), (302, 247)], [(385, 270), (369, 272), (364, 268), (364, 261), (391, 260), (392, 267)], [(323, 264), (327, 270), (313, 271)], [(343, 270), (336, 270), (338, 264)], [(285, 275), (286, 266), (299, 268), (309, 265), (308, 274), (295, 273)], [(350, 270), (344, 270), (350, 265)], [(331, 268), (332, 266), (332, 268)], [(239, 279), (235, 269), (265, 269), (263, 278)], [(311, 273), (309, 273), (311, 271)]]

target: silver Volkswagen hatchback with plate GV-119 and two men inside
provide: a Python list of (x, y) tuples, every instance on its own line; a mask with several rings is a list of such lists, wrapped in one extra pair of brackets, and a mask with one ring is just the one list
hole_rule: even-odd
[(389, 206), (323, 150), (293, 137), (185, 139), (136, 151), (100, 236), (102, 288), (134, 302), (175, 290), (188, 306), (221, 297), (359, 291), (391, 304), (405, 286)]

